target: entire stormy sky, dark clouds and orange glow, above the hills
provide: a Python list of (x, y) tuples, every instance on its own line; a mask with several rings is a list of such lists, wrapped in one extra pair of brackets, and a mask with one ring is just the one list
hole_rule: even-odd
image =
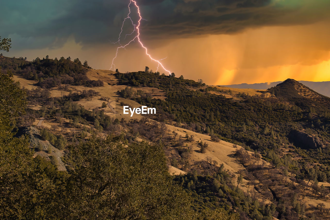
[[(136, 0), (140, 39), (176, 76), (209, 85), (264, 83), (287, 78), (330, 81), (329, 0)], [(87, 60), (110, 69), (129, 0), (2, 2), (5, 56)], [(131, 5), (133, 22), (136, 7)], [(125, 23), (122, 42), (131, 36)], [(156, 71), (138, 42), (118, 51), (120, 72)], [(159, 71), (165, 72), (163, 69)], [(165, 72), (166, 73), (166, 72)]]

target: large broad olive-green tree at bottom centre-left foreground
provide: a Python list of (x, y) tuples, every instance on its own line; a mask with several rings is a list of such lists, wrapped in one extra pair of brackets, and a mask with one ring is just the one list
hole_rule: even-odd
[(191, 219), (190, 199), (168, 174), (162, 147), (123, 137), (70, 146), (75, 169), (66, 213), (85, 219)]

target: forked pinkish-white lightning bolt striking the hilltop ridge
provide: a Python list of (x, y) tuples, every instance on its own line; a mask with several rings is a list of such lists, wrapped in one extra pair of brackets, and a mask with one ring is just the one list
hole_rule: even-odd
[[(138, 14), (139, 14), (139, 21), (138, 21), (138, 24), (137, 24), (137, 25), (134, 24), (132, 18), (130, 17), (130, 14), (131, 14), (131, 8), (130, 8), (130, 5), (131, 5), (132, 3), (133, 3), (133, 4), (135, 5), (135, 7), (137, 8), (137, 12), (138, 12)], [(120, 33), (119, 33), (118, 41), (115, 42), (115, 43), (118, 43), (120, 46), (117, 47), (117, 50), (116, 50), (116, 56), (112, 59), (112, 64), (111, 64), (111, 68), (110, 68), (110, 70), (111, 70), (112, 68), (114, 68), (114, 69), (116, 68), (116, 66), (115, 66), (115, 64), (114, 64), (114, 61), (115, 61), (115, 59), (117, 58), (118, 50), (119, 50), (120, 48), (124, 48), (124, 49), (125, 49), (125, 47), (126, 47), (127, 45), (129, 45), (130, 43), (132, 43), (133, 41), (135, 41), (135, 39), (137, 39), (137, 40), (139, 41), (141, 47), (143, 47), (143, 48), (145, 49), (145, 51), (146, 51), (146, 55), (148, 55), (148, 56), (150, 57), (151, 60), (153, 60), (153, 61), (155, 61), (155, 62), (158, 63), (157, 71), (158, 71), (158, 68), (159, 68), (159, 65), (160, 65), (160, 66), (161, 66), (166, 72), (168, 72), (169, 74), (171, 74), (171, 72), (170, 72), (169, 70), (165, 69), (165, 67), (163, 66), (163, 64), (160, 62), (161, 60), (163, 60), (163, 59), (165, 59), (165, 58), (162, 58), (162, 59), (159, 59), (159, 60), (156, 60), (156, 59), (152, 58), (151, 55), (148, 54), (148, 49), (143, 45), (142, 41), (140, 40), (140, 24), (141, 24), (141, 20), (145, 20), (145, 19), (142, 18), (141, 13), (140, 13), (140, 8), (139, 8), (139, 6), (137, 5), (137, 3), (136, 3), (135, 0), (130, 0), (130, 2), (129, 2), (129, 4), (128, 4), (128, 11), (129, 11), (129, 12), (128, 12), (128, 14), (127, 14), (127, 17), (124, 19), (123, 24), (122, 24), (122, 26), (121, 26), (121, 31), (120, 31)], [(121, 36), (121, 34), (122, 34), (122, 32), (123, 32), (123, 26), (124, 26), (124, 23), (125, 23), (125, 21), (126, 21), (127, 19), (129, 19), (129, 20), (132, 22), (132, 25), (133, 25), (133, 27), (134, 27), (134, 30), (133, 30), (132, 33), (130, 33), (130, 34), (126, 34), (126, 35), (125, 35), (125, 38), (126, 38), (128, 35), (132, 35), (134, 32), (136, 33), (136, 35), (135, 35), (135, 37), (134, 37), (131, 41), (129, 41), (127, 44), (125, 44), (125, 45), (123, 46), (123, 45), (120, 43), (120, 36)]]

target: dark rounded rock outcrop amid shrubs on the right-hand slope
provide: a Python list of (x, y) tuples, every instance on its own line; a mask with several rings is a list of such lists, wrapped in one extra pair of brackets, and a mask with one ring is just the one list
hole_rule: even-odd
[(324, 148), (324, 144), (321, 142), (320, 138), (313, 137), (312, 135), (306, 133), (305, 131), (292, 130), (288, 135), (289, 141), (296, 147), (301, 149), (316, 149)]

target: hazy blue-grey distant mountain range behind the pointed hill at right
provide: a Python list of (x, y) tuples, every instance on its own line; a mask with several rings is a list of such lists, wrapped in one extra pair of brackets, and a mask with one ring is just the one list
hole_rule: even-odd
[[(257, 89), (257, 90), (266, 90), (271, 87), (274, 87), (283, 81), (273, 82), (273, 83), (254, 83), (254, 84), (233, 84), (233, 85), (221, 85), (225, 87), (237, 88), (237, 89)], [(298, 81), (310, 89), (318, 92), (322, 95), (330, 97), (330, 81), (324, 82), (312, 82), (312, 81)]]

